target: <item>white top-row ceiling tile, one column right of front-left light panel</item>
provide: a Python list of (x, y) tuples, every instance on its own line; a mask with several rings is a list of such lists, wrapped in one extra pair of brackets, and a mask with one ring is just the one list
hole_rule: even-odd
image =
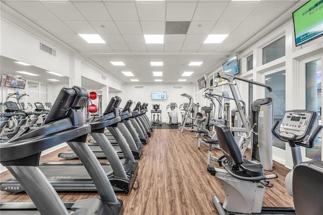
[(110, 21), (110, 14), (101, 2), (82, 2), (74, 3), (75, 7), (89, 21)]

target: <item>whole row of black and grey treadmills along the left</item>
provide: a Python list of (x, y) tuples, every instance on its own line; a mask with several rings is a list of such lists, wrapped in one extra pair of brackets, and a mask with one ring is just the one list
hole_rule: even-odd
[[(62, 88), (43, 125), (25, 127), (8, 142), (0, 144), (0, 163), (14, 176), (0, 189), (25, 191), (33, 203), (0, 203), (1, 214), (122, 214), (123, 201), (115, 192), (129, 193), (134, 185), (143, 144), (152, 126), (145, 115), (147, 104), (137, 102), (131, 111), (128, 100), (112, 97), (102, 116), (84, 118), (89, 93), (81, 87)], [(105, 132), (106, 129), (109, 132)], [(86, 143), (88, 135), (90, 143)], [(81, 163), (44, 163), (43, 150), (66, 142), (71, 150), (60, 153)], [(99, 163), (97, 158), (107, 158)], [(57, 191), (97, 191), (100, 198), (62, 202)]]

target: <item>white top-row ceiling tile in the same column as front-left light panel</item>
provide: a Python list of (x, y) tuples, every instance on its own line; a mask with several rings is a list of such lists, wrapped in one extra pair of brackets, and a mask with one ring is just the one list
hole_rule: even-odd
[(42, 3), (48, 10), (55, 14), (59, 19), (65, 20), (85, 20), (82, 14), (74, 7), (72, 3)]

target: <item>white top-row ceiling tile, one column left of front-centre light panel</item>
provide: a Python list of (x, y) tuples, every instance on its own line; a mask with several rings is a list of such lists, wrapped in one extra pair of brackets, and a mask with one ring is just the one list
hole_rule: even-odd
[(138, 15), (136, 6), (133, 2), (123, 3), (105, 3), (107, 10), (110, 12), (115, 21), (137, 21)]

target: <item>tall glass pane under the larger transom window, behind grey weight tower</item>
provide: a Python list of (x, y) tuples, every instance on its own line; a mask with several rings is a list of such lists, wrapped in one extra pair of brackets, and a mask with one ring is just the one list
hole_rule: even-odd
[[(265, 76), (265, 84), (273, 88), (273, 109), (274, 109), (274, 122), (281, 121), (285, 113), (285, 70), (271, 75)], [(269, 96), (269, 92), (265, 90), (265, 96)], [(285, 142), (279, 140), (274, 136), (273, 146), (285, 150)]]

